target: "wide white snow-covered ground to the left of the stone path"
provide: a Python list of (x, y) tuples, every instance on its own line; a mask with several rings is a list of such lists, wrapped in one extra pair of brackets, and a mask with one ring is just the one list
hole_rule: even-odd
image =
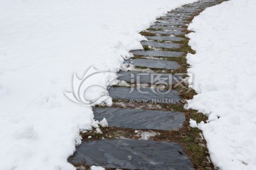
[(191, 1), (2, 0), (0, 169), (74, 169), (67, 158), (93, 114), (63, 93), (73, 73), (82, 77), (91, 66), (117, 72), (120, 55), (142, 48), (139, 31)]

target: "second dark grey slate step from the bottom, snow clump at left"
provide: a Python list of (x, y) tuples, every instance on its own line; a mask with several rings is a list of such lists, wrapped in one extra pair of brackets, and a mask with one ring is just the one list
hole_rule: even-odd
[(107, 119), (110, 127), (139, 130), (178, 130), (185, 120), (184, 113), (146, 111), (129, 108), (94, 108), (95, 120)]

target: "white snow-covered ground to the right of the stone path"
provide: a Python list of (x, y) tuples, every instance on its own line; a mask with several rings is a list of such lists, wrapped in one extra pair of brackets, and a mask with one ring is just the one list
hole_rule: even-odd
[(209, 115), (201, 124), (215, 166), (256, 169), (255, 0), (231, 0), (203, 11), (189, 26), (188, 55), (198, 95), (189, 108)]

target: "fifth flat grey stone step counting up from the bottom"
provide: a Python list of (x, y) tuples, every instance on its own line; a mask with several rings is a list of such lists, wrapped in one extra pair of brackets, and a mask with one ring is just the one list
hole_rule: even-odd
[(177, 62), (169, 60), (132, 59), (126, 60), (124, 63), (133, 64), (135, 67), (146, 67), (149, 69), (178, 69), (181, 67)]

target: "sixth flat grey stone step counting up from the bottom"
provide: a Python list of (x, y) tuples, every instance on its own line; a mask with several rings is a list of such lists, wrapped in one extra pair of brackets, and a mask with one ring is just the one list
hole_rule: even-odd
[(149, 57), (181, 57), (184, 52), (174, 51), (156, 51), (156, 50), (132, 50), (133, 55), (142, 55)]

